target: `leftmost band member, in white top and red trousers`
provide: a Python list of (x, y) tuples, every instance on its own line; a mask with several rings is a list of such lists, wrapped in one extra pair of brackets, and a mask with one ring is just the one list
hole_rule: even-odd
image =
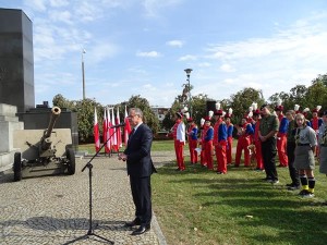
[(172, 127), (172, 136), (174, 143), (174, 152), (177, 157), (178, 171), (185, 170), (184, 162), (184, 145), (185, 145), (185, 124), (183, 122), (183, 114), (181, 112), (175, 113), (175, 123)]

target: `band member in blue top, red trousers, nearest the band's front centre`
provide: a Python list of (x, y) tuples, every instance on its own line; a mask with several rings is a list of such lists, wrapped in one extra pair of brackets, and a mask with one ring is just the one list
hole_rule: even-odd
[(227, 126), (222, 120), (222, 110), (215, 111), (216, 123), (214, 126), (214, 146), (217, 158), (217, 173), (227, 173), (227, 157), (226, 157), (226, 146), (227, 146)]

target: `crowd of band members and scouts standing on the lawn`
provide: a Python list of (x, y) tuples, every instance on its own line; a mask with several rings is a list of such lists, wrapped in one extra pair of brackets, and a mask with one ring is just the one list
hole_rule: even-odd
[[(225, 112), (217, 102), (216, 110), (209, 111), (199, 126), (189, 117), (189, 112), (177, 112), (172, 127), (177, 171), (185, 170), (184, 145), (189, 144), (192, 164), (199, 163), (217, 174), (227, 174), (229, 164), (240, 167), (244, 152), (244, 167), (265, 172), (264, 181), (277, 184), (278, 157), (278, 167), (289, 168), (291, 183), (286, 187), (289, 191), (301, 189), (299, 195), (303, 197), (313, 197), (316, 160), (319, 172), (327, 176), (327, 110), (319, 118), (320, 106), (312, 111), (308, 108), (299, 109), (300, 106), (295, 105), (293, 110), (287, 110), (283, 114), (281, 101), (275, 108), (266, 103), (258, 108), (254, 102), (240, 124), (233, 125), (232, 109)], [(307, 119), (310, 112), (311, 120)], [(233, 161), (234, 135), (238, 143)], [(215, 157), (217, 166), (214, 164)]]

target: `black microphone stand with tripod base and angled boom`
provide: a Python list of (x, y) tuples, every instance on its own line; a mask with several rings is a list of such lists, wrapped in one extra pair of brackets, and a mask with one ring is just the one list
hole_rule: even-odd
[[(122, 124), (123, 125), (123, 124)], [(110, 128), (114, 128), (114, 127), (118, 127), (118, 126), (112, 126)], [(92, 228), (92, 169), (93, 169), (93, 164), (90, 163), (93, 161), (93, 159), (98, 156), (98, 154), (101, 151), (101, 149), (105, 147), (105, 145), (107, 144), (107, 142), (109, 142), (109, 139), (112, 137), (112, 135), (114, 135), (116, 132), (113, 132), (109, 138), (102, 144), (102, 146), (95, 152), (95, 155), (89, 159), (89, 161), (84, 166), (84, 168), (82, 169), (82, 172), (84, 172), (84, 170), (87, 168), (88, 169), (88, 180), (89, 180), (89, 219), (88, 219), (88, 231), (85, 235), (81, 236), (81, 237), (77, 237), (69, 243), (65, 243), (64, 245), (66, 244), (71, 244), (71, 243), (74, 243), (78, 240), (83, 240), (83, 238), (89, 238), (89, 236), (94, 235), (98, 238), (101, 238), (101, 240), (105, 240), (106, 242), (110, 243), (110, 244), (114, 244), (112, 241), (110, 240), (107, 240), (98, 234), (96, 234), (94, 232), (94, 229)]]

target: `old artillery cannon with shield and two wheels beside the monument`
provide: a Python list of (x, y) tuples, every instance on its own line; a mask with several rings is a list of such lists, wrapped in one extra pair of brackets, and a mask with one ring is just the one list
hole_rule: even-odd
[(59, 173), (75, 173), (75, 154), (72, 149), (70, 128), (53, 128), (61, 113), (59, 107), (51, 109), (46, 130), (16, 130), (13, 135), (14, 181), (22, 177)]

